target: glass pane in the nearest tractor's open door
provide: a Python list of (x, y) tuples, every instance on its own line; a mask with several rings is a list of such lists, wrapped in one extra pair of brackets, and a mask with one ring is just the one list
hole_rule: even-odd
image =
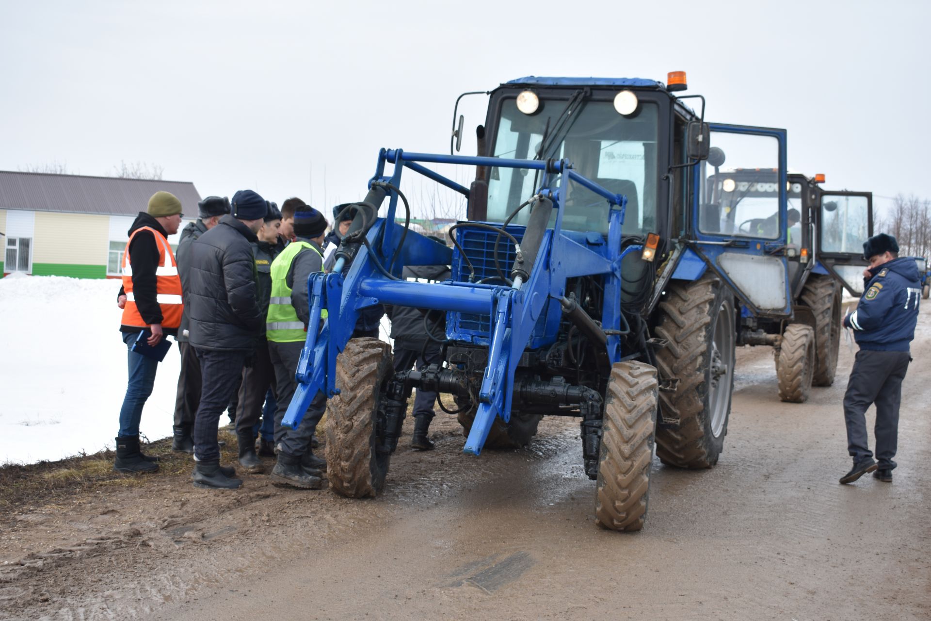
[[(711, 153), (708, 160), (702, 162), (701, 232), (777, 239), (780, 232), (778, 166), (776, 138), (712, 131)], [(798, 228), (801, 189), (787, 223), (795, 244), (801, 240)]]

